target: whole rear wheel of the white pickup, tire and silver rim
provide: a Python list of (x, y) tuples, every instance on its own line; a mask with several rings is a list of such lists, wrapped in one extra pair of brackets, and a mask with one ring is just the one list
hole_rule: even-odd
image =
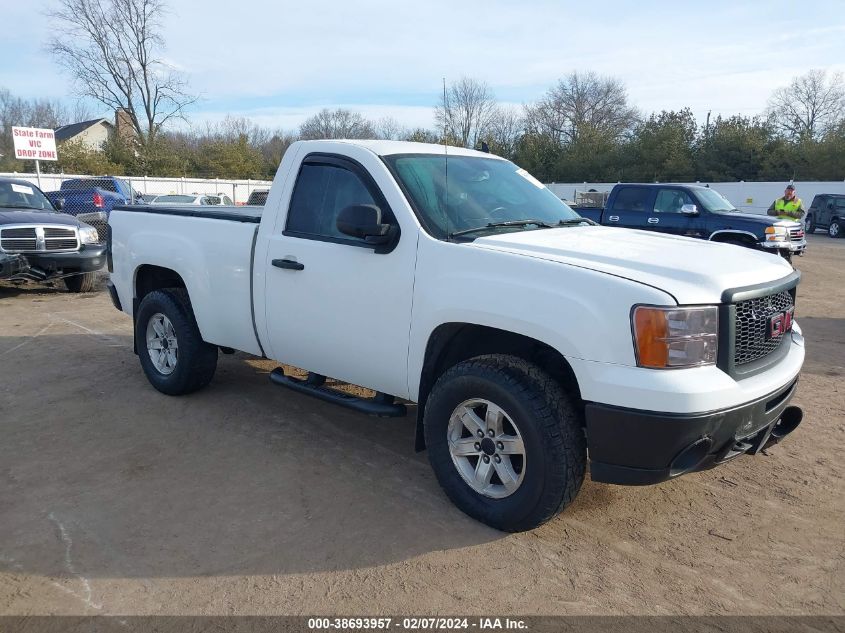
[(144, 297), (135, 319), (135, 346), (150, 384), (171, 396), (205, 387), (217, 369), (217, 346), (202, 340), (181, 288)]

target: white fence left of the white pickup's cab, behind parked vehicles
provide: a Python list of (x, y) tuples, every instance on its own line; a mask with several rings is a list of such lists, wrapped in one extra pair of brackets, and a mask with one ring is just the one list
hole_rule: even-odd
[[(38, 184), (37, 174), (0, 173), (3, 178), (21, 178)], [(63, 181), (70, 178), (90, 178), (77, 174), (41, 174), (41, 189), (57, 190)], [(270, 180), (225, 180), (222, 178), (148, 178), (147, 176), (120, 176), (132, 184), (141, 194), (161, 196), (164, 194), (225, 194), (236, 204), (244, 204), (255, 189), (268, 189)]]

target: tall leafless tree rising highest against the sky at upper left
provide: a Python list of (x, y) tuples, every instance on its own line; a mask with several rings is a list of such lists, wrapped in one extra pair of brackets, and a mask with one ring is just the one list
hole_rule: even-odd
[(58, 0), (49, 14), (61, 33), (49, 50), (79, 94), (125, 110), (141, 145), (196, 101), (161, 58), (164, 13), (163, 0)]

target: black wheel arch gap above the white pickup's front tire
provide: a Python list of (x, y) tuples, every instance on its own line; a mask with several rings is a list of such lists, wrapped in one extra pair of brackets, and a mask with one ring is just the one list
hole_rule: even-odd
[(552, 346), (499, 328), (474, 323), (443, 323), (432, 331), (425, 349), (417, 398), (415, 449), (425, 450), (423, 413), (437, 378), (458, 363), (485, 354), (506, 354), (534, 363), (546, 371), (581, 406), (581, 391), (572, 366)]

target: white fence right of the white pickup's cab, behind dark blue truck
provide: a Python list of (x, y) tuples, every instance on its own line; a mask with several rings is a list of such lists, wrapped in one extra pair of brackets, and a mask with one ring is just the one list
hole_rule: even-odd
[[(568, 182), (552, 183), (547, 185), (559, 198), (564, 200), (575, 200), (575, 193), (589, 191), (610, 191), (615, 182)], [(671, 183), (666, 183), (671, 184)], [(684, 183), (690, 185), (707, 185), (723, 196), (743, 213), (765, 214), (769, 205), (783, 195), (787, 183), (781, 182), (695, 182)], [(810, 207), (813, 197), (820, 193), (841, 193), (845, 194), (845, 181), (832, 182), (795, 182), (795, 192), (804, 201), (804, 208)]]

